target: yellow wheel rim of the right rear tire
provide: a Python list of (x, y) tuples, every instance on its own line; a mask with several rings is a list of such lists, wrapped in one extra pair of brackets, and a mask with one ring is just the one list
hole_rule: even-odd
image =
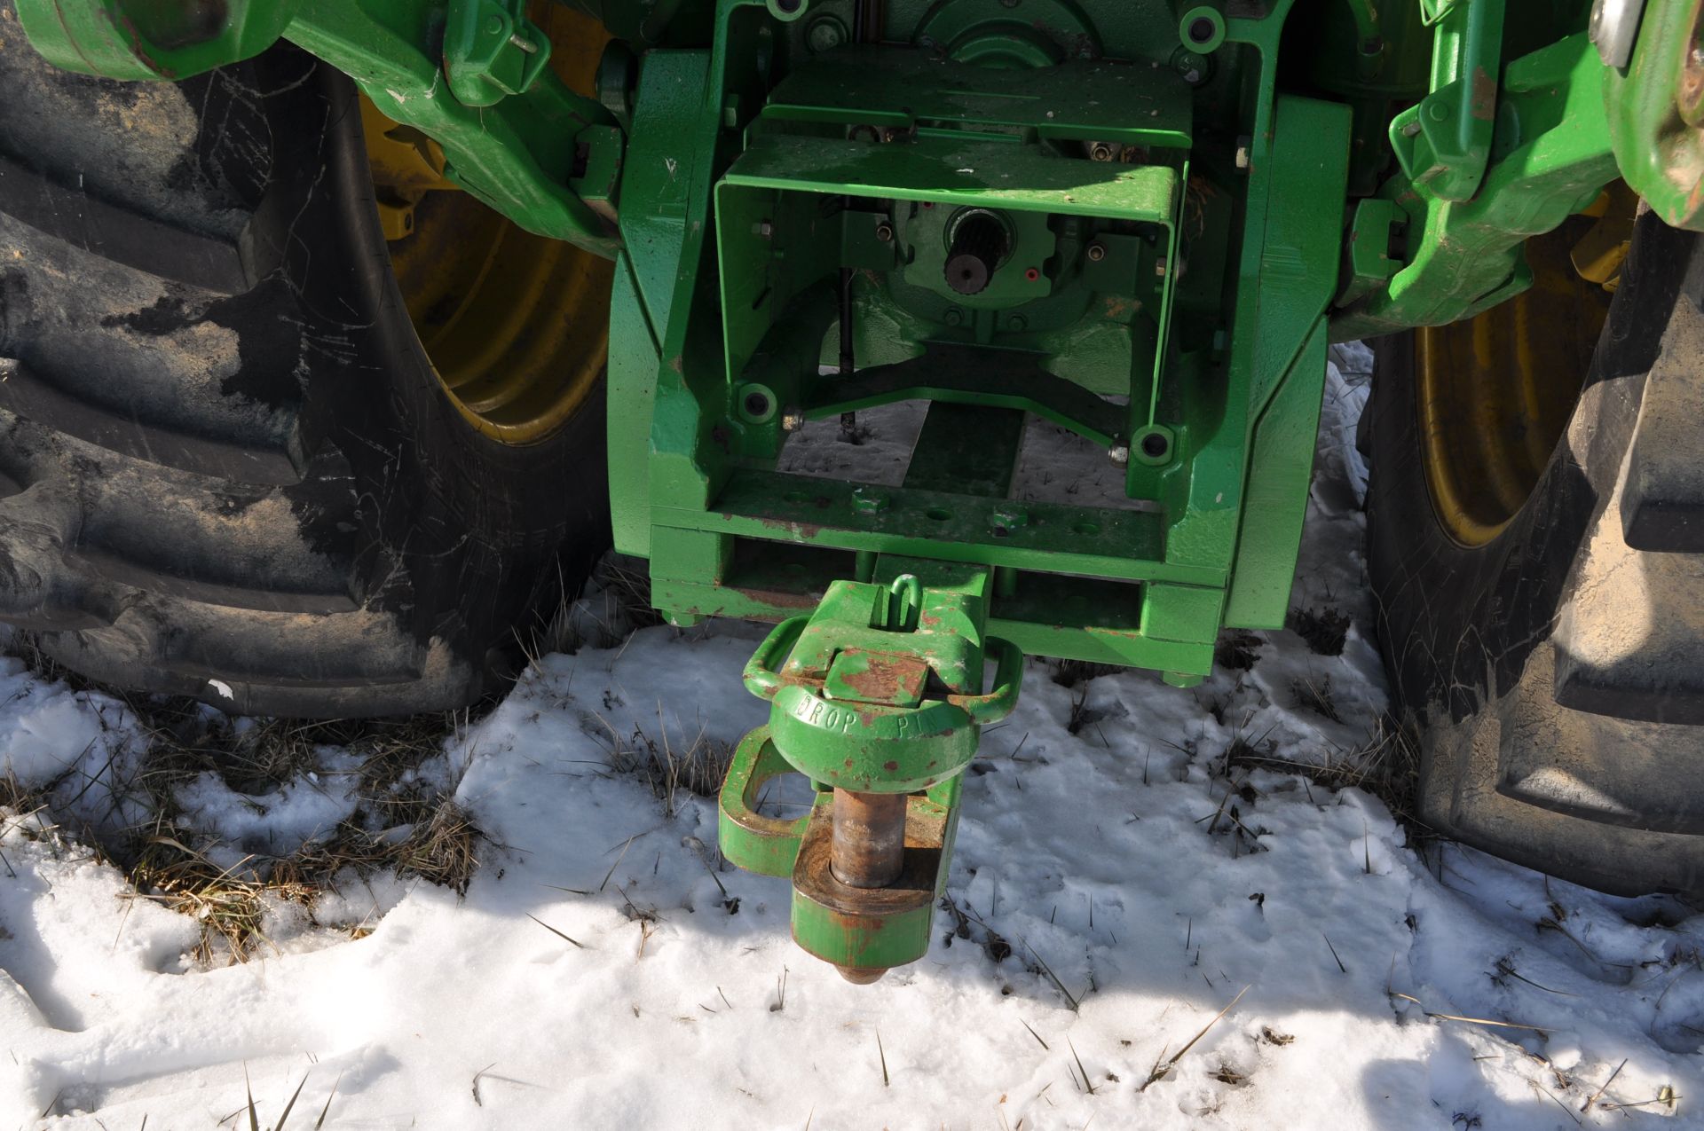
[[(1476, 319), (1414, 332), (1426, 489), (1460, 545), (1484, 545), (1513, 521), (1580, 400), (1615, 281), (1602, 274), (1605, 225), (1631, 232), (1632, 221), (1629, 199), (1605, 198), (1597, 225), (1573, 218), (1527, 240), (1530, 290)], [(1576, 269), (1586, 247), (1590, 269)]]

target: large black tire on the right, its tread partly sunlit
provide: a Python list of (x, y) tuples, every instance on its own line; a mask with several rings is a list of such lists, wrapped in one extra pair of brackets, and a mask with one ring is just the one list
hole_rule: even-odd
[(1465, 548), (1421, 462), (1413, 336), (1375, 344), (1368, 566), (1421, 818), (1617, 894), (1704, 891), (1704, 255), (1644, 215), (1573, 419)]

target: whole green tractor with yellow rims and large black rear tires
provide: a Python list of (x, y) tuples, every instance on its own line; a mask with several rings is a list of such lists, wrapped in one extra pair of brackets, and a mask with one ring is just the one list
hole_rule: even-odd
[[(1697, 893), (1699, 230), (1699, 0), (0, 0), (0, 620), (416, 712), (648, 559), (775, 625), (722, 852), (869, 981), (1026, 654), (1191, 686), (1283, 625), (1375, 339), (1425, 819)], [(789, 463), (900, 402), (898, 472)], [(1121, 489), (1019, 497), (1036, 421)]]

